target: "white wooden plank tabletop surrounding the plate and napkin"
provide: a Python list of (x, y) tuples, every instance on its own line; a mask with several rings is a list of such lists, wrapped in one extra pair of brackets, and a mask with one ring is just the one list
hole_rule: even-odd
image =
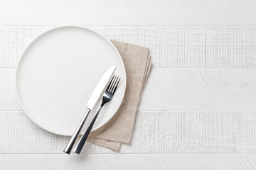
[[(0, 1), (0, 169), (256, 169), (256, 1)], [(60, 25), (149, 47), (154, 69), (131, 145), (120, 153), (35, 125), (16, 100), (15, 67)], [(153, 96), (153, 98), (149, 98)]]

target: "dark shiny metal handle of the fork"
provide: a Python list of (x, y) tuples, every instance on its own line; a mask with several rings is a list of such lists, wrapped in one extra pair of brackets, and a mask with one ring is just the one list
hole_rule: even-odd
[(97, 111), (97, 113), (95, 114), (95, 116), (92, 119), (92, 122), (90, 123), (90, 125), (88, 126), (87, 130), (85, 131), (85, 133), (82, 135), (82, 137), (80, 138), (80, 140), (78, 141), (78, 144), (75, 146), (75, 149), (73, 150), (73, 152), (75, 152), (76, 154), (80, 154), (80, 152), (82, 151), (82, 147), (85, 145), (85, 142), (87, 140), (87, 137), (90, 134), (90, 131), (92, 130), (93, 125), (95, 124), (95, 121), (97, 119), (97, 116), (99, 115), (101, 109), (103, 106), (100, 106), (99, 110)]

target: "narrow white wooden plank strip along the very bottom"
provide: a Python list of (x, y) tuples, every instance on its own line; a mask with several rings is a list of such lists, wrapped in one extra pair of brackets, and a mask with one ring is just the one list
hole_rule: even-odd
[(256, 169), (255, 154), (0, 155), (1, 169)]

